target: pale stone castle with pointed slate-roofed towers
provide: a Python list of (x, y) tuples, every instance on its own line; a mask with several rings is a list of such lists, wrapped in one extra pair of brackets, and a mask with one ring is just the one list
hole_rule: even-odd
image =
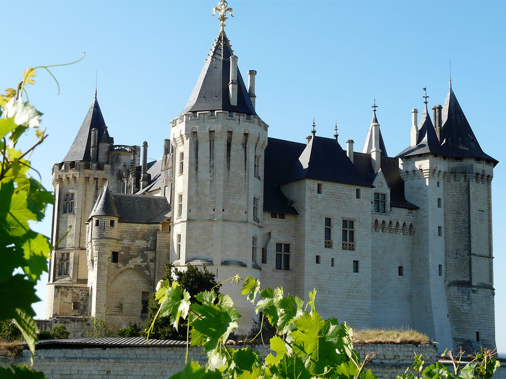
[[(439, 347), (495, 347), (491, 181), (485, 154), (451, 88), (387, 155), (374, 107), (361, 152), (316, 134), (268, 137), (221, 29), (163, 156), (117, 145), (97, 95), (53, 167), (55, 210), (46, 317), (143, 324), (164, 271), (205, 265), (225, 280), (258, 277), (354, 328), (411, 327)], [(406, 133), (408, 131), (406, 130)], [(365, 130), (364, 130), (365, 135)], [(69, 229), (69, 227), (71, 228)], [(225, 283), (242, 314), (257, 317)]]

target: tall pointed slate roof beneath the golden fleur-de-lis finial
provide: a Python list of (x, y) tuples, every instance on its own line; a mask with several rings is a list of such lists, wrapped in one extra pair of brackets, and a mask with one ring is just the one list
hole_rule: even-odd
[(230, 104), (230, 56), (234, 55), (230, 41), (221, 30), (207, 55), (204, 68), (198, 77), (190, 99), (181, 114), (198, 111), (229, 111), (257, 115), (249, 94), (237, 69), (237, 105)]

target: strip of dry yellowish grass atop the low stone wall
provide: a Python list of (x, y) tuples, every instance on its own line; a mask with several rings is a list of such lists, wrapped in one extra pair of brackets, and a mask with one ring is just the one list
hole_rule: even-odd
[(364, 329), (353, 331), (353, 343), (427, 345), (430, 340), (412, 329)]

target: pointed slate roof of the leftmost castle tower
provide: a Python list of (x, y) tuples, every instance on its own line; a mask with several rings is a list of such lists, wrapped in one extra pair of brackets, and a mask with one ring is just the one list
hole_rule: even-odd
[(72, 146), (62, 162), (91, 161), (92, 129), (98, 129), (98, 140), (100, 141), (102, 134), (104, 134), (104, 126), (104, 116), (102, 116), (102, 111), (98, 105), (97, 93), (95, 93), (95, 99), (93, 99), (90, 110), (85, 120), (82, 121), (82, 125), (75, 136)]

